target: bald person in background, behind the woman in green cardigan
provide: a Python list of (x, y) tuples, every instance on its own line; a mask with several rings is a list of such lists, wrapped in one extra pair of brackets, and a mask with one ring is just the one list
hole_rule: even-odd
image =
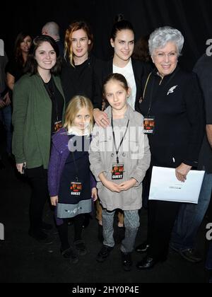
[(41, 31), (42, 35), (49, 35), (51, 36), (55, 42), (57, 43), (57, 46), (59, 47), (59, 55), (61, 58), (64, 57), (64, 43), (61, 41), (60, 35), (59, 35), (59, 25), (55, 22), (48, 22), (42, 27)]

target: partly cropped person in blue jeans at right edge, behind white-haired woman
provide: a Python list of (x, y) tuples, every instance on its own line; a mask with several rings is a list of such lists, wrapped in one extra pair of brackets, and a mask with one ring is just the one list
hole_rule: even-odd
[(199, 155), (199, 170), (205, 170), (198, 204), (182, 204), (172, 231), (170, 247), (189, 262), (200, 262), (196, 251), (196, 237), (211, 201), (212, 192), (212, 57), (204, 54), (193, 70), (204, 94), (206, 134)]

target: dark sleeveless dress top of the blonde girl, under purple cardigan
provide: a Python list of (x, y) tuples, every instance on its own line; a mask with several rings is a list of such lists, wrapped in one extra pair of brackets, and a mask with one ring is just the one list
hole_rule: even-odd
[[(77, 141), (78, 151), (69, 153), (66, 159), (64, 170), (61, 173), (61, 180), (59, 186), (59, 203), (62, 204), (78, 204), (80, 200), (90, 199), (90, 163), (88, 158), (88, 148), (90, 146), (89, 136), (70, 136), (74, 142)], [(76, 143), (73, 144), (76, 146)], [(81, 149), (80, 149), (81, 148)], [(73, 156), (76, 161), (76, 167), (73, 161)], [(71, 195), (71, 182), (76, 182), (76, 175), (78, 181), (82, 183), (82, 192), (80, 197)]]

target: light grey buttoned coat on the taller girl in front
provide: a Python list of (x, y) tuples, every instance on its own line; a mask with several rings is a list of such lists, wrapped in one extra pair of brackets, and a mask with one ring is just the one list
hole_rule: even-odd
[[(105, 112), (111, 121), (112, 108), (107, 107)], [(124, 164), (124, 177), (122, 180), (112, 180), (112, 166), (117, 164), (117, 154), (114, 148), (111, 125), (107, 129), (103, 129), (95, 124), (93, 129), (93, 140), (89, 152), (90, 170), (98, 181), (100, 203), (108, 211), (114, 209), (137, 210), (141, 209), (142, 206), (142, 181), (151, 163), (151, 152), (148, 136), (143, 134), (143, 116), (134, 111), (129, 105), (124, 119), (114, 120), (117, 147), (119, 147), (122, 136), (124, 136), (128, 120), (129, 127), (119, 149), (119, 164)], [(100, 182), (100, 173), (104, 173), (107, 180), (119, 184), (131, 178), (137, 180), (137, 183), (127, 191), (111, 192)]]

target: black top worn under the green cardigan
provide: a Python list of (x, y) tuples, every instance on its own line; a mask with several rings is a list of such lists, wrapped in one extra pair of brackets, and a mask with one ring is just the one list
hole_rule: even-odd
[(45, 88), (49, 98), (52, 100), (52, 133), (54, 133), (54, 124), (62, 121), (64, 98), (55, 85), (53, 78), (48, 83), (45, 83)]

